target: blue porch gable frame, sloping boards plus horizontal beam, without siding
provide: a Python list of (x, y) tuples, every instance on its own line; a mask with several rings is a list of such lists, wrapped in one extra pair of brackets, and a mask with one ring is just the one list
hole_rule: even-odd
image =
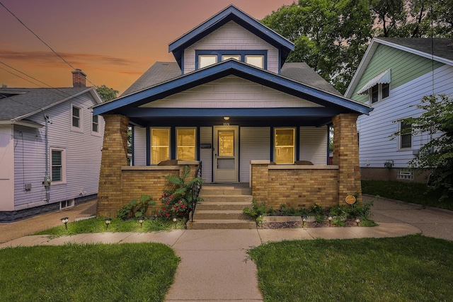
[[(308, 100), (320, 105), (315, 108), (139, 108), (139, 106), (166, 98), (169, 95), (200, 86), (204, 83), (221, 79), (225, 76), (234, 75), (263, 86), (273, 88), (277, 91), (294, 95), (297, 98)], [(193, 71), (190, 74), (179, 76), (171, 81), (166, 81), (156, 86), (125, 95), (121, 98), (111, 100), (108, 103), (96, 105), (93, 108), (93, 115), (121, 114), (130, 117), (132, 123), (146, 124), (146, 120), (166, 120), (169, 117), (181, 119), (201, 117), (210, 119), (214, 117), (250, 117), (253, 118), (314, 118), (333, 117), (339, 113), (355, 112), (357, 114), (369, 114), (372, 108), (368, 105), (357, 103), (341, 95), (335, 95), (317, 88), (292, 81), (279, 74), (256, 68), (243, 62), (229, 59)]]

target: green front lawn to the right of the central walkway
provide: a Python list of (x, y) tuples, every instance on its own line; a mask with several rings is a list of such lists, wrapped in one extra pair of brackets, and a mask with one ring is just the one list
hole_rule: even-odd
[(265, 301), (452, 301), (453, 242), (447, 240), (282, 241), (248, 254)]

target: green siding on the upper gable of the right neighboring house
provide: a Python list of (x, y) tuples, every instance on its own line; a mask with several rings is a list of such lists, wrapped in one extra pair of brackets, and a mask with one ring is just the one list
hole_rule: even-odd
[(432, 71), (433, 64), (435, 69), (443, 65), (394, 47), (379, 45), (351, 98), (359, 102), (367, 102), (368, 95), (357, 95), (357, 91), (386, 69), (391, 68), (390, 88), (395, 89)]

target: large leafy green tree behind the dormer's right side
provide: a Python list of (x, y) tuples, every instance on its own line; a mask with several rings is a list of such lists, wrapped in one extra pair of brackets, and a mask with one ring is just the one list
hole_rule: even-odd
[(306, 62), (340, 92), (352, 79), (372, 33), (368, 0), (299, 0), (262, 22), (294, 42), (287, 62)]

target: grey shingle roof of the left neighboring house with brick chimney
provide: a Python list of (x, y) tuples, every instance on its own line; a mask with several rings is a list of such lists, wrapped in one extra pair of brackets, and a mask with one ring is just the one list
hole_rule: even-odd
[(91, 90), (83, 88), (0, 88), (0, 120), (37, 112), (73, 95)]

